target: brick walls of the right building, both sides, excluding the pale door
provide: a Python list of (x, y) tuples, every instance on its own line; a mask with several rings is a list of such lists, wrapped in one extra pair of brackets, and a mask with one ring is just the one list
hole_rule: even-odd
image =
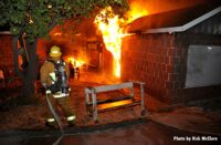
[(168, 103), (221, 96), (221, 86), (185, 89), (189, 44), (221, 45), (203, 34), (134, 34), (124, 38), (122, 79), (146, 83), (146, 92)]

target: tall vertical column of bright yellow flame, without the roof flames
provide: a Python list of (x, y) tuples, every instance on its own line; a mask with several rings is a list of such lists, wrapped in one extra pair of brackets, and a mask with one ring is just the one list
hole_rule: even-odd
[(106, 49), (113, 54), (114, 75), (120, 76), (120, 48), (122, 48), (122, 29), (120, 19), (113, 13), (110, 7), (105, 8), (95, 18), (95, 23), (102, 31)]

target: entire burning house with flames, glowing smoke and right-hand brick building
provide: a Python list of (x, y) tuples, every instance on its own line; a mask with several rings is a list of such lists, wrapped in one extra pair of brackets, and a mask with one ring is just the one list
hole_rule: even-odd
[[(50, 46), (57, 44), (67, 62), (123, 82), (143, 81), (147, 94), (166, 102), (220, 96), (220, 2), (157, 14), (141, 7), (131, 7), (127, 19), (106, 8), (81, 24), (70, 20), (62, 28), (56, 25), (50, 32), (51, 41), (39, 40), (39, 59), (43, 62)], [(12, 48), (12, 37), (3, 38), (0, 55), (9, 56), (1, 56), (6, 59), (1, 62), (13, 70), (12, 61), (7, 61), (13, 54), (4, 52)]]

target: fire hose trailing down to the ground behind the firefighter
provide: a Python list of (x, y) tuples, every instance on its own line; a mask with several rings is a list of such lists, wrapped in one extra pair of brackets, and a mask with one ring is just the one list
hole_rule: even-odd
[(52, 113), (53, 117), (55, 118), (59, 127), (60, 127), (60, 131), (61, 131), (61, 136), (53, 143), (53, 145), (59, 145), (59, 143), (62, 141), (63, 136), (64, 136), (64, 131), (62, 128), (62, 122), (61, 122), (61, 118), (59, 117), (59, 115), (56, 114), (56, 112), (54, 111), (53, 106), (52, 106), (52, 103), (50, 101), (50, 94), (51, 93), (45, 93), (46, 94), (46, 103), (49, 105), (49, 108), (50, 108), (50, 112)]

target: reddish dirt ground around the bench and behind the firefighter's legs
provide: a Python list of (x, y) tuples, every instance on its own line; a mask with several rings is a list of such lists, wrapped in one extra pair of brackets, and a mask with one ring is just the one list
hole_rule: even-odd
[[(95, 124), (93, 118), (88, 116), (85, 105), (85, 93), (84, 89), (87, 86), (97, 86), (103, 84), (110, 84), (113, 83), (112, 79), (103, 77), (103, 75), (97, 75), (96, 73), (82, 73), (80, 79), (71, 79), (71, 106), (76, 114), (76, 126), (87, 126), (87, 125), (101, 125), (101, 124), (108, 124), (108, 123), (117, 123), (127, 120), (134, 120), (141, 117), (140, 115), (140, 105), (136, 105), (133, 107), (125, 107), (114, 111), (108, 111), (105, 113), (98, 113), (98, 124)], [(114, 83), (118, 83), (116, 80)], [(7, 90), (2, 92), (3, 97), (7, 99), (15, 97), (19, 92), (18, 90), (10, 91)], [(104, 97), (113, 97), (118, 92), (112, 92), (105, 94)], [(135, 94), (140, 94), (139, 91), (135, 91)], [(118, 95), (118, 94), (117, 94)], [(0, 111), (0, 130), (44, 130), (44, 114), (48, 106), (45, 104), (45, 96), (42, 92), (38, 92), (38, 97), (40, 103), (28, 104), (28, 105), (17, 105), (10, 104), (4, 107), (4, 110)], [(101, 99), (103, 96), (99, 96)], [(8, 101), (10, 102), (10, 101)], [(152, 102), (152, 106), (156, 105), (156, 102)], [(3, 102), (1, 102), (3, 104)], [(11, 105), (11, 106), (10, 106)], [(1, 106), (2, 107), (2, 106)], [(151, 107), (151, 105), (150, 105)], [(61, 116), (63, 122), (63, 127), (67, 127), (65, 122), (64, 115), (62, 114), (61, 110), (56, 110)]]

